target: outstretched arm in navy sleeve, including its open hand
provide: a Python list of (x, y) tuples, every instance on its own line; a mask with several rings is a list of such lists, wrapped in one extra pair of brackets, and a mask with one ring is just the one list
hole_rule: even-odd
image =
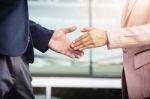
[(30, 31), (35, 48), (42, 52), (51, 49), (71, 58), (80, 58), (83, 55), (83, 51), (75, 51), (70, 48), (71, 42), (66, 37), (68, 33), (75, 30), (76, 27), (68, 27), (55, 30), (54, 32), (54, 30), (48, 30), (41, 25), (30, 21)]

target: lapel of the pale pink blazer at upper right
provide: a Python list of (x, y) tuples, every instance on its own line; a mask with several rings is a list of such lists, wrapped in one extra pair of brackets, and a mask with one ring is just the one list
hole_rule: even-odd
[(127, 19), (130, 16), (136, 1), (138, 1), (138, 0), (128, 0), (127, 1), (127, 4), (125, 5), (126, 8), (124, 10), (124, 14), (122, 17), (122, 26), (125, 26), (125, 23), (127, 22)]

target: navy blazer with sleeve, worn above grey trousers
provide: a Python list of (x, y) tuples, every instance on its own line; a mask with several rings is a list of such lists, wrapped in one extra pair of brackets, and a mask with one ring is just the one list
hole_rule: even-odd
[(27, 0), (0, 0), (0, 54), (25, 55), (33, 62), (33, 48), (45, 52), (53, 30), (28, 18)]

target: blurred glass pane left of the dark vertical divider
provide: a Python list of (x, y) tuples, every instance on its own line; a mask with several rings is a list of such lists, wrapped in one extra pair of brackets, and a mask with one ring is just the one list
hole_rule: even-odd
[[(61, 1), (62, 2), (62, 1)], [(59, 29), (68, 26), (79, 26), (74, 33), (68, 34), (68, 38), (73, 41), (81, 33), (80, 28), (88, 26), (88, 2), (80, 3), (53, 3), (45, 2), (30, 3), (30, 19), (48, 27), (49, 29)], [(31, 72), (34, 75), (89, 75), (89, 53), (80, 60), (74, 60), (64, 55), (47, 51), (42, 54), (35, 50), (36, 59), (31, 64)]]

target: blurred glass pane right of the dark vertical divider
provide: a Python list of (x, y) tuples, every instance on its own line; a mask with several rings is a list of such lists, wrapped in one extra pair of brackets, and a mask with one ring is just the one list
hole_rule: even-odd
[[(98, 1), (99, 3), (96, 3)], [(119, 0), (93, 0), (91, 4), (92, 26), (106, 30), (120, 28), (122, 4)], [(95, 48), (92, 50), (92, 61), (94, 76), (120, 77), (122, 71), (121, 49), (108, 50), (107, 46)]]

